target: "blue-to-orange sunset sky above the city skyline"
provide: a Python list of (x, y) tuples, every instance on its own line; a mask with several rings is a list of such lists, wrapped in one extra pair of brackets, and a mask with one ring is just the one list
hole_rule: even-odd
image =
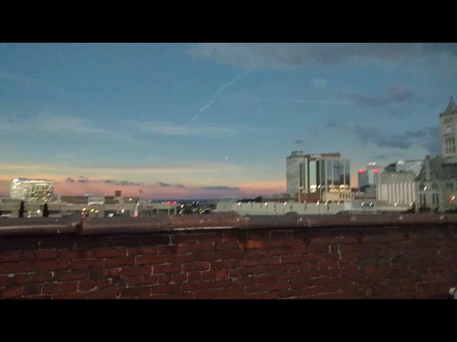
[[(286, 157), (357, 170), (439, 150), (456, 43), (1, 43), (0, 195), (286, 191)], [(300, 140), (300, 143), (296, 143)]]

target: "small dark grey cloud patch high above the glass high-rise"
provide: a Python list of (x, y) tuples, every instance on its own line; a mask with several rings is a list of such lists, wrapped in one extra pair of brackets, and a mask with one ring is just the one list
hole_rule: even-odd
[(386, 95), (366, 95), (363, 93), (342, 93), (343, 98), (347, 98), (355, 103), (368, 105), (369, 107), (383, 107), (391, 103), (403, 103), (413, 99), (413, 93), (406, 87), (394, 85), (386, 90)]

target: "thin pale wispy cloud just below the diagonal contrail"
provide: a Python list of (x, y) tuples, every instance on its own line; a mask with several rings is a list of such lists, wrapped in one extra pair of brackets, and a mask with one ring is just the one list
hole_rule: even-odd
[(243, 130), (248, 130), (242, 125), (216, 125), (204, 124), (191, 126), (178, 123), (143, 123), (141, 130), (157, 135), (175, 135), (187, 137), (224, 138), (227, 135), (237, 135)]

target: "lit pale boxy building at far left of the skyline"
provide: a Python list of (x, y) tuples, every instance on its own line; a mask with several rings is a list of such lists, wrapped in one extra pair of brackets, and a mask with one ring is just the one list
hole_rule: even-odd
[(9, 185), (9, 197), (25, 202), (48, 202), (54, 194), (54, 181), (15, 178)]

